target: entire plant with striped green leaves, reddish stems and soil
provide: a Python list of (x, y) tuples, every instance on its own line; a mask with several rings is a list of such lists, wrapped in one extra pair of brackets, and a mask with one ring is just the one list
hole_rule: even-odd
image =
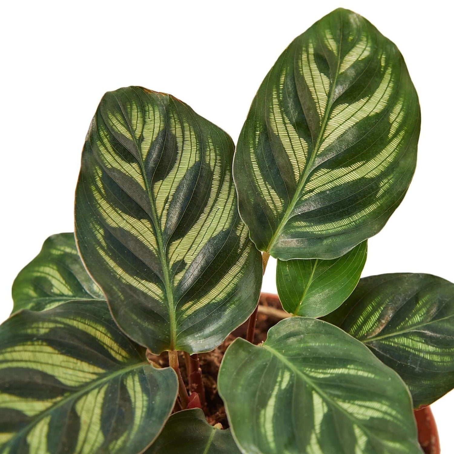
[[(422, 453), (454, 285), (360, 280), (419, 119), (399, 50), (347, 10), (277, 59), (236, 151), (171, 95), (105, 94), (75, 235), (44, 242), (0, 328), (0, 452)], [(257, 306), (270, 255), (281, 306)]]

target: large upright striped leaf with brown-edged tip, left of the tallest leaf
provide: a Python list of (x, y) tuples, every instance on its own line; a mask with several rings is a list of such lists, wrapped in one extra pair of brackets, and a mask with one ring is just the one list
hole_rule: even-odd
[(262, 259), (237, 211), (232, 139), (168, 94), (106, 93), (76, 190), (81, 257), (153, 353), (212, 350), (252, 313)]

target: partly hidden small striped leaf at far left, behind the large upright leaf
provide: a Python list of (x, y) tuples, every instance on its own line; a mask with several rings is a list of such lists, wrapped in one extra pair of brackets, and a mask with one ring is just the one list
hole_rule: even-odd
[(104, 299), (79, 258), (74, 233), (47, 238), (41, 252), (13, 284), (13, 313), (20, 309), (42, 311), (69, 300)]

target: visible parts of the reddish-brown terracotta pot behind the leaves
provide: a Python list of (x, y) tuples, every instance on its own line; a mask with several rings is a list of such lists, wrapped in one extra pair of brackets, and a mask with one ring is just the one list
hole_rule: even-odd
[[(259, 310), (267, 316), (282, 318), (282, 306), (279, 296), (274, 293), (261, 293), (260, 304), (265, 307)], [(430, 407), (415, 410), (415, 419), (418, 425), (418, 439), (425, 454), (440, 454), (440, 441), (438, 437), (437, 424)]]

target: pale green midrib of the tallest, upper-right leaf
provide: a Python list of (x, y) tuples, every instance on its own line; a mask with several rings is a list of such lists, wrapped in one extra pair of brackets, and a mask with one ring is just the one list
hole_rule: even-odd
[(298, 186), (296, 187), (295, 194), (293, 195), (293, 197), (286, 209), (284, 217), (282, 217), (281, 222), (279, 222), (279, 225), (276, 228), (276, 232), (274, 232), (273, 236), (271, 237), (271, 240), (268, 242), (268, 247), (266, 248), (266, 252), (271, 251), (271, 247), (273, 247), (274, 243), (276, 242), (276, 239), (281, 235), (281, 232), (284, 229), (284, 227), (286, 226), (288, 219), (291, 217), (293, 208), (295, 208), (296, 202), (298, 202), (298, 200), (300, 198), (301, 191), (304, 188), (304, 185), (306, 184), (306, 180), (312, 171), (312, 165), (316, 160), (317, 153), (319, 152), (321, 139), (323, 138), (323, 134), (325, 133), (326, 123), (328, 123), (329, 114), (331, 113), (331, 107), (334, 102), (334, 88), (336, 87), (337, 77), (339, 75), (339, 68), (341, 65), (341, 44), (342, 44), (342, 23), (341, 23), (341, 39), (339, 40), (339, 53), (338, 53), (338, 59), (337, 59), (336, 74), (335, 74), (334, 80), (332, 81), (332, 84), (330, 87), (330, 96), (326, 103), (325, 114), (323, 115), (323, 121), (321, 124), (320, 132), (318, 133), (316, 145), (312, 149), (311, 158), (309, 159), (309, 162), (306, 164), (304, 172), (301, 176), (301, 180), (298, 183)]

